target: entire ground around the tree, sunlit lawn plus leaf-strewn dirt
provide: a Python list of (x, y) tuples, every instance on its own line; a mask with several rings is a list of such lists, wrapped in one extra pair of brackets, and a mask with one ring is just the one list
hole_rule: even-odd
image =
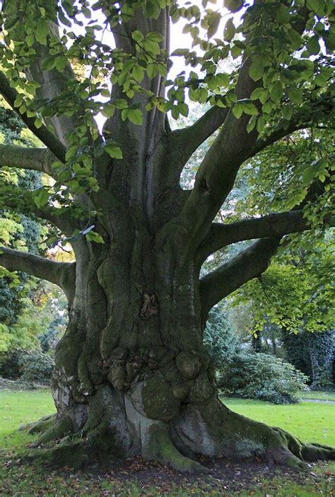
[[(324, 394), (325, 395), (325, 394)], [(317, 395), (319, 397), (319, 395)], [(323, 397), (324, 398), (324, 397)], [(254, 419), (281, 426), (302, 440), (335, 445), (331, 430), (334, 405), (301, 402), (274, 406), (254, 400), (225, 399), (230, 409)], [(141, 458), (128, 460), (107, 473), (73, 474), (71, 469), (49, 472), (23, 464), (20, 452), (31, 435), (16, 431), (22, 423), (52, 412), (48, 391), (0, 391), (0, 495), (9, 496), (333, 496), (335, 463), (312, 464), (308, 474), (277, 470), (265, 464), (232, 464), (226, 460), (202, 461), (209, 476), (184, 476)], [(30, 481), (29, 489), (27, 481)]]

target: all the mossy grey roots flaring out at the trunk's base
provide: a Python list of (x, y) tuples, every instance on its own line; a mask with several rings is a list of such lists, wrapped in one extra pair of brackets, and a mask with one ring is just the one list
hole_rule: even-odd
[[(235, 414), (216, 399), (207, 404), (184, 404), (171, 423), (145, 418), (139, 411), (121, 409), (119, 394), (100, 389), (90, 415), (78, 430), (70, 416), (47, 416), (28, 427), (41, 433), (31, 445), (30, 460), (51, 466), (83, 469), (107, 467), (126, 457), (142, 455), (180, 472), (209, 472), (196, 462), (199, 455), (233, 460), (263, 460), (306, 469), (305, 462), (335, 459), (335, 449), (302, 443), (281, 428)], [(27, 427), (25, 427), (27, 428)], [(49, 443), (54, 440), (54, 445)]]

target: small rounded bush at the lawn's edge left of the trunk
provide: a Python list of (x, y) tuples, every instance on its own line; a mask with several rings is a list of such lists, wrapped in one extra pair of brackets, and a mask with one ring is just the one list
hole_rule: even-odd
[(25, 351), (19, 359), (21, 380), (46, 382), (51, 378), (54, 359), (40, 349)]

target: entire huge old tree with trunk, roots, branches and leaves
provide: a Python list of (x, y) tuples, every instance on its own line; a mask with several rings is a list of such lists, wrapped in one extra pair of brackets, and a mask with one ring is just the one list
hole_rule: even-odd
[[(330, 6), (246, 4), (220, 37), (228, 12), (206, 0), (201, 8), (170, 0), (3, 3), (1, 94), (45, 148), (1, 146), (1, 165), (54, 181), (35, 192), (3, 189), (1, 198), (47, 219), (56, 227), (50, 245), (70, 242), (76, 257), (56, 262), (7, 247), (0, 255), (11, 271), (57, 283), (69, 302), (52, 380), (57, 416), (35, 428), (38, 444), (62, 442), (42, 457), (79, 465), (141, 454), (184, 470), (203, 469), (196, 455), (295, 466), (334, 457), (224, 407), (203, 344), (209, 310), (265, 271), (285, 235), (331, 222), (328, 156), (309, 165), (288, 210), (216, 222), (245, 161), (293, 131), (331, 125)], [(242, 2), (226, 6), (235, 12)], [(170, 21), (178, 19), (199, 53), (170, 54)], [(183, 57), (185, 72), (169, 80), (174, 57)], [(165, 113), (187, 115), (187, 95), (210, 108), (171, 131)], [(217, 130), (184, 191), (185, 163)], [(254, 239), (199, 276), (216, 250)]]

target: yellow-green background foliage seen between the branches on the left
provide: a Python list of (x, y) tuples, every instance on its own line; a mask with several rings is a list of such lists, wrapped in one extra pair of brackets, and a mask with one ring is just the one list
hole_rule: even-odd
[[(3, 144), (18, 146), (34, 146), (39, 144), (35, 136), (24, 126), (22, 120), (8, 105), (1, 101), (0, 107), (0, 139)], [(4, 185), (20, 189), (39, 189), (42, 187), (41, 173), (35, 170), (15, 170), (2, 168), (1, 182)], [(45, 223), (44, 223), (45, 224)], [(47, 227), (37, 218), (1, 211), (0, 239), (1, 244), (20, 248), (33, 254), (43, 254), (47, 238)], [(2, 269), (2, 268), (1, 268)], [(38, 283), (38, 280), (24, 272), (13, 274), (2, 269), (0, 278), (0, 376), (19, 378), (25, 373), (25, 359), (28, 350), (34, 350), (40, 361), (48, 364), (52, 359), (45, 358), (40, 350), (50, 349), (60, 334), (64, 333), (64, 319), (59, 303), (54, 300), (57, 287), (50, 288), (49, 283)], [(47, 286), (48, 284), (48, 286)], [(48, 300), (50, 302), (48, 302)], [(65, 307), (66, 308), (66, 307)], [(53, 318), (53, 321), (52, 321)], [(43, 337), (40, 337), (43, 334)], [(36, 356), (37, 354), (37, 356)], [(31, 357), (31, 353), (30, 356)], [(31, 362), (31, 361), (30, 361)], [(36, 362), (36, 361), (35, 361)], [(39, 373), (40, 374), (40, 373)], [(30, 368), (30, 379), (33, 379)], [(35, 378), (40, 380), (41, 378)]]

